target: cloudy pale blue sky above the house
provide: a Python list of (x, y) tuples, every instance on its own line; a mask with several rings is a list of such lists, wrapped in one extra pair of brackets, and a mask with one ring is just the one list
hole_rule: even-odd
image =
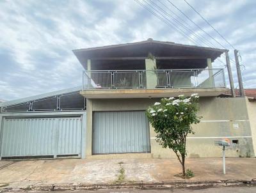
[[(147, 5), (146, 1), (140, 0)], [(221, 48), (168, 0), (160, 1), (162, 4), (154, 2), (175, 19), (183, 20), (190, 29), (183, 29), (186, 36), (195, 40), (197, 45), (207, 46), (200, 42), (199, 38), (204, 38)], [(185, 1), (170, 1), (230, 49), (230, 58), (234, 58), (232, 47)], [(256, 1), (187, 1), (240, 50), (244, 87), (256, 88)], [(72, 49), (137, 42), (147, 38), (195, 45), (175, 27), (168, 26), (133, 0), (1, 0), (0, 31), (0, 98), (4, 100), (81, 85), (83, 68), (72, 54)], [(214, 67), (225, 66), (216, 61)], [(234, 63), (232, 72), (237, 87)]]

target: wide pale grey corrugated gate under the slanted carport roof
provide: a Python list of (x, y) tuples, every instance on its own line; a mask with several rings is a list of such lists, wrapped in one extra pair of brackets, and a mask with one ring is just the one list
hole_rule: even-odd
[(4, 118), (1, 158), (81, 157), (81, 117)]

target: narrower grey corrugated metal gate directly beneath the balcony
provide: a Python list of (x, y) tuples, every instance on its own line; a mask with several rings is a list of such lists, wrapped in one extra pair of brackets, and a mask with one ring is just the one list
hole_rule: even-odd
[(93, 154), (150, 152), (145, 111), (93, 112)]

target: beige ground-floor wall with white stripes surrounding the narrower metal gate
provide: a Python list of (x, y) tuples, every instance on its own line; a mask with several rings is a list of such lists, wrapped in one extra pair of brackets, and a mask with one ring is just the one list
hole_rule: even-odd
[[(156, 143), (156, 133), (150, 127), (151, 153), (92, 155), (92, 111), (145, 110), (159, 98), (88, 99), (86, 158), (175, 157), (171, 150)], [(188, 157), (221, 157), (221, 148), (214, 141), (229, 137), (238, 139), (239, 146), (227, 150), (227, 157), (254, 156), (250, 122), (245, 98), (200, 98), (201, 123), (193, 126), (196, 134), (188, 137)]]

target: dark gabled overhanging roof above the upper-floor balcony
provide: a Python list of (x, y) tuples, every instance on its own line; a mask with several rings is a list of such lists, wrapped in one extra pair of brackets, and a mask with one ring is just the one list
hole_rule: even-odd
[(88, 49), (72, 50), (81, 65), (86, 68), (87, 59), (99, 58), (127, 58), (145, 57), (151, 53), (156, 57), (202, 57), (211, 58), (214, 61), (226, 52), (225, 49), (215, 49), (211, 47), (198, 47), (195, 45), (183, 45), (174, 42), (160, 42), (148, 39), (142, 42), (123, 43), (118, 45), (108, 45), (103, 47), (93, 47)]

